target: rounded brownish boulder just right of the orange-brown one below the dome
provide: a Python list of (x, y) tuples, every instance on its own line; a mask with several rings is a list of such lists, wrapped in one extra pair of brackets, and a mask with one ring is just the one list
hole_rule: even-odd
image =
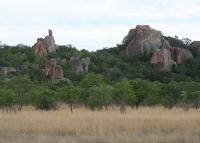
[(180, 64), (187, 59), (193, 59), (193, 55), (189, 50), (173, 47), (172, 48), (172, 58), (177, 63)]

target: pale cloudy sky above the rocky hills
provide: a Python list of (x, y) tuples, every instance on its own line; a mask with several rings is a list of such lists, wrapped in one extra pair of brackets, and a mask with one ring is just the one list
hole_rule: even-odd
[(137, 25), (200, 41), (200, 0), (0, 0), (0, 41), (33, 46), (52, 29), (56, 44), (96, 51)]

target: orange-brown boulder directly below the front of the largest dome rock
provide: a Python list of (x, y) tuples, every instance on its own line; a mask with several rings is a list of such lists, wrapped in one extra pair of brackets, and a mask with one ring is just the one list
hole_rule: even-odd
[(171, 70), (176, 62), (171, 58), (171, 52), (167, 49), (155, 49), (151, 58), (151, 63), (156, 70)]

